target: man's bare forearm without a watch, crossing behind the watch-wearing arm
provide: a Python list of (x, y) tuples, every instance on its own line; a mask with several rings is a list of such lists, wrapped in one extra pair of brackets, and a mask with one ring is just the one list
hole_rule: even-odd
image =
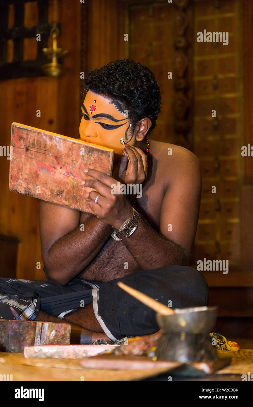
[(50, 279), (58, 284), (67, 284), (91, 263), (111, 232), (112, 226), (91, 216), (83, 231), (78, 227), (58, 239), (43, 258)]

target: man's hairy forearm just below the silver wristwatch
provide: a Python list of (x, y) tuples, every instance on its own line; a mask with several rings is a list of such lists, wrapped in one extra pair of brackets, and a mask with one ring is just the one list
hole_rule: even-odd
[(167, 265), (187, 263), (181, 247), (152, 230), (141, 215), (135, 232), (130, 237), (121, 237), (121, 239), (142, 269), (152, 270)]

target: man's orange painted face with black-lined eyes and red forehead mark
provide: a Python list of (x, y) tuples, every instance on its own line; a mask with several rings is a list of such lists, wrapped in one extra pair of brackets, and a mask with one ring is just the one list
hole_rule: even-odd
[(81, 140), (111, 148), (116, 156), (121, 155), (124, 148), (122, 137), (126, 144), (134, 145), (135, 136), (132, 134), (130, 120), (119, 102), (89, 90), (81, 110)]

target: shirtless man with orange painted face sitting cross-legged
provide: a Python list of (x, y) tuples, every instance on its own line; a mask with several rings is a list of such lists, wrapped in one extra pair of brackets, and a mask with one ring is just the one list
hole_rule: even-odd
[[(114, 150), (112, 176), (86, 172), (89, 179), (82, 184), (93, 189), (87, 194), (93, 214), (41, 201), (44, 271), (50, 289), (62, 291), (52, 296), (54, 312), (45, 312), (51, 308), (42, 299), (30, 319), (64, 318), (81, 327), (82, 343), (90, 343), (158, 330), (154, 311), (122, 291), (116, 279), (173, 308), (207, 305), (208, 287), (199, 271), (186, 266), (199, 214), (199, 162), (182, 147), (149, 139), (161, 102), (154, 75), (123, 59), (91, 71), (85, 86), (80, 139)], [(141, 185), (142, 197), (133, 204), (132, 195), (112, 194), (118, 181)], [(133, 213), (138, 227), (123, 236), (119, 229)], [(80, 295), (85, 306), (77, 306)], [(61, 299), (68, 304), (63, 312), (56, 311)]]

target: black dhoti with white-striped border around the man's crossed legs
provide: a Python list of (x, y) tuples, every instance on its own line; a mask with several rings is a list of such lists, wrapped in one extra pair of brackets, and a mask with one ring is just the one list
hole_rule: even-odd
[(201, 272), (173, 265), (134, 271), (108, 282), (74, 278), (60, 285), (52, 281), (0, 278), (0, 318), (13, 319), (12, 306), (22, 320), (35, 319), (39, 309), (63, 319), (92, 302), (101, 331), (112, 341), (158, 331), (155, 311), (119, 288), (118, 281), (172, 308), (208, 305), (208, 284)]

